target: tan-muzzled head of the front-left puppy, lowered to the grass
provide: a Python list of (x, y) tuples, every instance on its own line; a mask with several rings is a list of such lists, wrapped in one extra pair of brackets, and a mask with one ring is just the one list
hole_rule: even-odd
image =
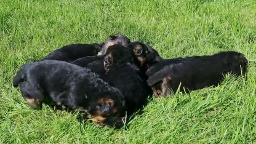
[(97, 96), (89, 104), (88, 118), (101, 125), (120, 125), (123, 116), (125, 100), (122, 94), (115, 88), (111, 92)]

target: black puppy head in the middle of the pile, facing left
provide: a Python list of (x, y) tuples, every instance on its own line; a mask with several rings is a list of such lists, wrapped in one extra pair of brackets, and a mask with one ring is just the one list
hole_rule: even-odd
[(104, 68), (107, 70), (110, 66), (132, 63), (133, 61), (131, 48), (123, 45), (112, 45), (104, 55)]

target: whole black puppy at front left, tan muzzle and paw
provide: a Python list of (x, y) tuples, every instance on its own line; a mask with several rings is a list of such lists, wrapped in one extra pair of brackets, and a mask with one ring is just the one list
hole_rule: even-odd
[(91, 70), (65, 61), (45, 60), (24, 65), (13, 78), (27, 103), (37, 108), (51, 99), (57, 105), (80, 110), (96, 123), (122, 125), (122, 93)]

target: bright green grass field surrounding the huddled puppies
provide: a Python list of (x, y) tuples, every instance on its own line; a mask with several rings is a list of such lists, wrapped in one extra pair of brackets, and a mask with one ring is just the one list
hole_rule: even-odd
[[(29, 108), (12, 78), (26, 60), (121, 33), (164, 58), (244, 53), (244, 77), (150, 99), (127, 128)], [(0, 143), (256, 143), (255, 0), (0, 0)]]

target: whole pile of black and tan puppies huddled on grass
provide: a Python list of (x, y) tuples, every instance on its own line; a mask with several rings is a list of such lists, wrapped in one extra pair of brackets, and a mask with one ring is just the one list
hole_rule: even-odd
[(163, 59), (145, 43), (113, 35), (104, 43), (66, 45), (42, 60), (30, 60), (13, 86), (32, 108), (45, 103), (121, 128), (148, 96), (218, 85), (227, 73), (244, 75), (247, 63), (234, 51)]

